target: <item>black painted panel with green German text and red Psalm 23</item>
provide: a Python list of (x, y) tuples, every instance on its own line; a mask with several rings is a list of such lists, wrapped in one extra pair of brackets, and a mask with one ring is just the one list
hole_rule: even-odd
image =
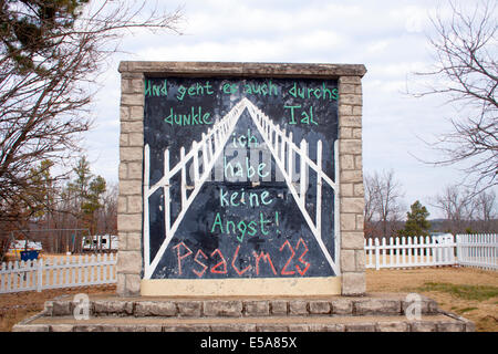
[[(193, 142), (199, 142), (201, 134), (212, 127), (217, 119), (222, 118), (242, 97), (249, 98), (281, 128), (292, 132), (293, 142), (298, 146), (304, 138), (309, 144), (312, 160), (315, 160), (317, 156), (317, 142), (321, 139), (323, 170), (334, 179), (333, 144), (338, 138), (336, 81), (155, 77), (146, 80), (145, 87), (144, 138), (145, 144), (151, 147), (151, 186), (163, 177), (165, 148), (169, 148), (173, 168), (179, 160), (180, 147), (184, 146), (188, 153)], [(260, 91), (248, 93), (248, 87), (259, 87)], [(184, 92), (185, 95), (181, 96)], [(193, 95), (189, 95), (189, 92)], [(295, 93), (297, 97), (291, 93)], [(305, 97), (300, 97), (298, 93), (304, 93)], [(191, 114), (193, 111), (195, 115), (199, 115), (199, 118), (196, 118), (200, 121), (196, 122), (199, 124), (193, 125), (190, 121), (190, 125), (178, 125), (169, 118), (172, 113), (184, 115)], [(235, 165), (240, 162), (243, 165), (243, 157), (250, 157), (258, 148), (262, 148), (262, 154), (271, 156), (269, 150), (263, 148), (263, 139), (248, 111), (242, 113), (232, 136), (252, 138), (258, 146), (251, 144), (250, 147), (238, 146), (238, 149), (234, 149), (232, 139), (228, 139), (225, 150), (228, 163)], [(224, 155), (220, 158), (222, 166)], [(253, 159), (250, 162), (256, 169), (259, 163), (267, 163), (263, 171), (271, 171), (271, 180), (261, 181), (257, 186), (250, 180), (205, 183), (163, 254), (153, 279), (334, 275), (287, 184), (276, 181), (276, 175), (279, 173), (274, 159), (261, 158), (256, 165), (252, 164)], [(299, 166), (299, 158), (294, 164)], [(299, 167), (295, 167), (295, 170), (299, 171)], [(309, 181), (307, 209), (314, 220), (314, 173), (310, 173)], [(176, 219), (180, 208), (179, 183), (177, 174), (170, 188), (172, 220)], [(187, 184), (193, 185), (188, 174)], [(234, 201), (239, 206), (228, 206), (226, 201), (229, 201), (235, 192), (238, 195)], [(246, 205), (240, 200), (242, 192)], [(263, 192), (266, 204), (261, 201)], [(250, 197), (252, 206), (249, 202)], [(149, 198), (151, 260), (165, 239), (163, 206), (164, 195), (159, 188)], [(217, 220), (221, 220), (221, 226)], [(333, 220), (333, 190), (323, 184), (322, 239), (332, 257)], [(234, 222), (235, 230), (231, 223), (227, 230), (227, 221)]]

